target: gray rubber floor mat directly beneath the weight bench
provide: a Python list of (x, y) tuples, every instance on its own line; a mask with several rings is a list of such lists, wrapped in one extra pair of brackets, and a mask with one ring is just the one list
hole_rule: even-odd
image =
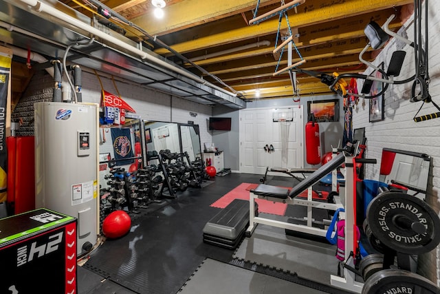
[(296, 272), (299, 277), (330, 285), (330, 275), (336, 275), (338, 270), (335, 253), (335, 245), (285, 235), (284, 229), (258, 224), (232, 257)]

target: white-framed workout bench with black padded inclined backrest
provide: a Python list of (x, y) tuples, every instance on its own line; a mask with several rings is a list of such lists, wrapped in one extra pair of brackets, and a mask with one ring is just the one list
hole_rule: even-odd
[[(256, 224), (267, 224), (273, 227), (280, 227), (282, 229), (289, 229), (292, 231), (298, 231), (300, 233), (308, 233), (311, 235), (318, 235), (325, 237), (327, 234), (327, 229), (320, 229), (318, 227), (312, 227), (312, 217), (311, 211), (313, 208), (318, 209), (328, 209), (336, 211), (336, 209), (343, 208), (339, 197), (335, 197), (335, 203), (318, 202), (312, 200), (312, 189), (311, 187), (315, 185), (321, 178), (327, 176), (331, 171), (337, 169), (340, 165), (344, 163), (344, 153), (341, 152), (336, 157), (331, 159), (325, 165), (322, 165), (319, 169), (314, 171), (310, 176), (305, 178), (293, 187), (292, 189), (285, 189), (281, 187), (271, 186), (261, 184), (255, 189), (250, 190), (250, 212), (249, 212), (249, 227), (246, 230), (246, 236), (250, 237), (254, 232)], [(308, 189), (307, 200), (295, 199), (300, 193)], [(307, 225), (304, 224), (293, 224), (289, 222), (283, 222), (279, 220), (271, 220), (268, 218), (263, 218), (262, 216), (255, 216), (254, 202), (256, 198), (270, 200), (273, 202), (283, 202), (287, 204), (297, 204), (307, 207)]]

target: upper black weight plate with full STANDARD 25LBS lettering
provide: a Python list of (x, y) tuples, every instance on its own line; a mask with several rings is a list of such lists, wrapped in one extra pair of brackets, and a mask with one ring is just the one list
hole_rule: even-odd
[[(399, 226), (396, 217), (404, 216), (420, 222), (426, 228), (423, 234)], [(408, 194), (389, 191), (373, 198), (366, 210), (366, 220), (375, 237), (389, 248), (406, 254), (427, 253), (440, 242), (440, 219), (424, 201)]]

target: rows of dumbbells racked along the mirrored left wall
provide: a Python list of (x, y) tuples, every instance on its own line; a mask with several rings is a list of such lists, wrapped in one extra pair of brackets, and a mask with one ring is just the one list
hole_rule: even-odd
[[(177, 198), (177, 191), (188, 187), (199, 188), (209, 178), (201, 158), (190, 162), (186, 152), (172, 153), (170, 150), (148, 151), (148, 162), (157, 162), (133, 172), (115, 167), (116, 160), (109, 160), (109, 174), (104, 176), (107, 187), (100, 189), (100, 227), (111, 212), (124, 210), (139, 213), (159, 198)], [(155, 161), (154, 161), (155, 160)], [(185, 161), (186, 160), (186, 161)]]

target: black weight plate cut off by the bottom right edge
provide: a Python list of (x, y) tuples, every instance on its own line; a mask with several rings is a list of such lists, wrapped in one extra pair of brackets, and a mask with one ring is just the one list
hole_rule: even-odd
[(384, 269), (371, 275), (362, 288), (362, 294), (378, 293), (440, 294), (440, 288), (416, 273)]

